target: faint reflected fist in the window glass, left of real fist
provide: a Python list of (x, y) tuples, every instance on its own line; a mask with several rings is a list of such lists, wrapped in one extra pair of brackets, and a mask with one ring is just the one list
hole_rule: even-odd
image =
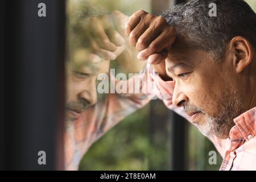
[[(127, 16), (119, 11), (110, 15), (102, 15), (90, 19), (86, 25), (86, 36), (93, 56), (101, 57), (97, 60), (115, 60), (125, 49), (125, 39), (119, 32), (122, 28), (115, 27)], [(127, 19), (126, 19), (127, 20)], [(95, 60), (95, 59), (94, 59)]]

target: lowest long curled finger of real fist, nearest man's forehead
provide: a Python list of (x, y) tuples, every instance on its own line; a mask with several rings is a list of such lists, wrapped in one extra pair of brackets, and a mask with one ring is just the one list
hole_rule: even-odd
[(146, 49), (139, 52), (138, 59), (139, 60), (146, 60), (150, 55), (158, 53), (163, 49), (170, 49), (172, 43), (175, 41), (175, 30), (174, 29), (167, 29), (163, 31)]

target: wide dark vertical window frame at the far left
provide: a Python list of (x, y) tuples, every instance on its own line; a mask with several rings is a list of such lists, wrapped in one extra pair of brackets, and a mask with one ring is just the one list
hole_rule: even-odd
[(65, 1), (5, 1), (5, 20), (3, 168), (63, 169)]

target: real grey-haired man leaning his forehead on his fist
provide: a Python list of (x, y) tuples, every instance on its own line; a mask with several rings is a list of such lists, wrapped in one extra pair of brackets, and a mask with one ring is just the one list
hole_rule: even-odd
[(221, 170), (256, 169), (256, 15), (249, 5), (193, 0), (162, 16), (141, 10), (126, 31), (138, 59), (164, 80), (164, 103), (212, 140), (224, 158)]

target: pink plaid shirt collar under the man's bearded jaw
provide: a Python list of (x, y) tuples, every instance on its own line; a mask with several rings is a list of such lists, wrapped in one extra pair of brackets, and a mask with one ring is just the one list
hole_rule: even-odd
[(235, 126), (229, 133), (230, 140), (245, 139), (246, 141), (256, 136), (256, 107), (246, 111), (234, 119)]

